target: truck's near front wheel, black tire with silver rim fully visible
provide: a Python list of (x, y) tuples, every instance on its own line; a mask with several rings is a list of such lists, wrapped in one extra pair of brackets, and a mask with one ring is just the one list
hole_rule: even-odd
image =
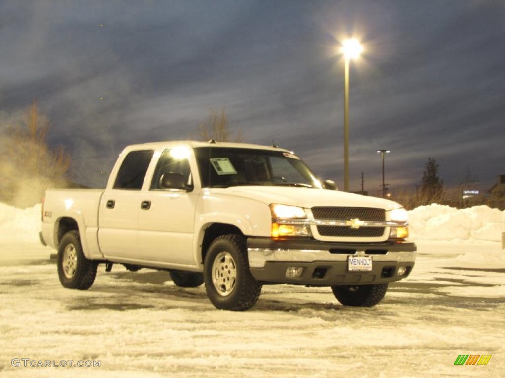
[[(227, 271), (228, 281), (215, 284), (214, 275), (216, 275), (216, 280), (220, 279), (219, 267), (223, 268), (223, 272), (226, 272), (224, 269), (228, 269), (228, 266), (224, 265), (227, 264), (226, 261), (231, 264), (230, 270)], [(231, 277), (231, 281), (230, 274), (235, 275), (234, 278)], [(223, 277), (222, 274), (221, 277)], [(254, 306), (263, 286), (249, 272), (245, 238), (236, 234), (219, 236), (211, 243), (204, 262), (204, 280), (205, 289), (212, 304), (220, 309), (234, 311), (246, 310)], [(229, 287), (229, 291), (226, 291), (226, 287)]]

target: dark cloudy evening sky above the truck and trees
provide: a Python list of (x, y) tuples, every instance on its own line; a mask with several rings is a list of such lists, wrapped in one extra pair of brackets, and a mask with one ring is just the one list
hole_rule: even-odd
[(0, 119), (37, 99), (73, 178), (100, 185), (126, 145), (195, 138), (224, 106), (244, 142), (343, 188), (349, 36), (352, 191), (361, 172), (379, 189), (382, 148), (394, 188), (428, 157), (448, 186), (505, 174), (504, 1), (0, 1)]

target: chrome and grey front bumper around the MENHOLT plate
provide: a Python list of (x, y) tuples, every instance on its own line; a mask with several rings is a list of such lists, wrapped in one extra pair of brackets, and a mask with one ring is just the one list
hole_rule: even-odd
[[(248, 238), (249, 269), (258, 281), (302, 285), (365, 285), (401, 280), (416, 260), (413, 242), (334, 243), (312, 239)], [(349, 271), (349, 256), (372, 256), (371, 271)], [(398, 275), (399, 267), (406, 267)], [(303, 268), (299, 277), (286, 277), (288, 267)]]

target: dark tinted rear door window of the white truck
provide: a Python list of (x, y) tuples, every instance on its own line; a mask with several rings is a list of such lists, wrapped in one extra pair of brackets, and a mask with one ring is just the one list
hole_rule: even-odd
[(131, 151), (126, 155), (119, 168), (114, 189), (139, 191), (144, 182), (145, 173), (153, 158), (153, 150)]

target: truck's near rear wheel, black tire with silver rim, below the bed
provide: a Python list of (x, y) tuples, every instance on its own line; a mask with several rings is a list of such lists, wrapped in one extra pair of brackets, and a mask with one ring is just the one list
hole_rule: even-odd
[(97, 265), (84, 256), (79, 231), (73, 230), (63, 235), (58, 247), (58, 277), (63, 287), (89, 289), (96, 277)]

